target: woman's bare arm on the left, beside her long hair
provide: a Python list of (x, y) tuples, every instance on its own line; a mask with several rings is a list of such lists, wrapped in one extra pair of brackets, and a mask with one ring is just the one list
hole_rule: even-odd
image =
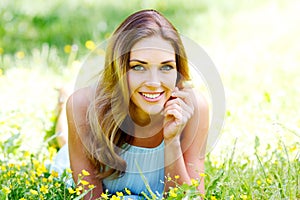
[[(73, 171), (73, 179), (75, 183), (78, 181), (78, 174), (82, 170), (86, 170), (90, 173), (89, 176), (85, 177), (84, 180), (93, 184), (95, 188), (92, 190), (93, 199), (95, 196), (100, 196), (103, 192), (102, 182), (99, 181), (94, 172), (96, 169), (90, 160), (87, 158), (85, 153), (85, 147), (82, 143), (83, 137), (88, 137), (89, 125), (86, 119), (86, 112), (90, 103), (88, 89), (81, 89), (70, 96), (67, 102), (67, 119), (69, 128), (69, 155), (70, 165)], [(85, 196), (85, 199), (90, 199), (90, 193)]]

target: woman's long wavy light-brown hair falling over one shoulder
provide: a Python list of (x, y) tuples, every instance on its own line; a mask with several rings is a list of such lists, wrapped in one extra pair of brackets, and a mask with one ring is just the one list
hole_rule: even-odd
[(126, 134), (133, 131), (129, 120), (130, 95), (126, 77), (130, 50), (138, 41), (151, 36), (160, 36), (173, 46), (177, 83), (190, 79), (180, 36), (164, 16), (155, 10), (141, 10), (120, 24), (108, 42), (105, 67), (87, 112), (91, 137), (85, 143), (86, 150), (90, 160), (99, 168), (96, 173), (100, 180), (109, 176), (116, 178), (126, 171), (126, 161), (120, 154), (124, 145), (133, 139)]

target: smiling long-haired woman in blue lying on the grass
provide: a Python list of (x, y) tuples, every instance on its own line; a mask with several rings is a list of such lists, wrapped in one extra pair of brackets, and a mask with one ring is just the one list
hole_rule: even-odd
[[(95, 87), (67, 102), (73, 179), (83, 169), (92, 193), (157, 196), (200, 179), (208, 105), (192, 88), (185, 50), (173, 25), (154, 10), (129, 16), (113, 33)], [(204, 193), (203, 180), (199, 190)], [(89, 195), (87, 195), (89, 196)], [(89, 197), (88, 197), (89, 198)], [(133, 198), (133, 196), (131, 196)]]

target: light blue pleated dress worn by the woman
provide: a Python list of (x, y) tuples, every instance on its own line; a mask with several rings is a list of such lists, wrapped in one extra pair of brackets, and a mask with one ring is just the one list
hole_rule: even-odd
[[(127, 168), (123, 176), (117, 179), (103, 179), (104, 191), (109, 194), (123, 192), (129, 189), (131, 195), (123, 199), (143, 199), (142, 193), (150, 199), (155, 195), (161, 199), (164, 191), (164, 142), (154, 148), (145, 148), (130, 145), (121, 154), (126, 161)], [(58, 152), (51, 170), (62, 173), (64, 169), (70, 167), (68, 147), (65, 145)]]

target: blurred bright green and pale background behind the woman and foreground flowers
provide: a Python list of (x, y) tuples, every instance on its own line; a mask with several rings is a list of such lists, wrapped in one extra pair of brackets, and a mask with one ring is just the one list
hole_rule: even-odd
[(297, 0), (2, 0), (0, 137), (20, 132), (24, 148), (32, 147), (32, 140), (43, 143), (44, 135), (53, 134), (55, 88), (72, 85), (85, 56), (126, 16), (154, 8), (198, 42), (219, 70), (227, 107), (216, 155), (236, 138), (242, 153), (253, 149), (255, 136), (265, 144), (293, 143), (300, 126), (299, 5)]

